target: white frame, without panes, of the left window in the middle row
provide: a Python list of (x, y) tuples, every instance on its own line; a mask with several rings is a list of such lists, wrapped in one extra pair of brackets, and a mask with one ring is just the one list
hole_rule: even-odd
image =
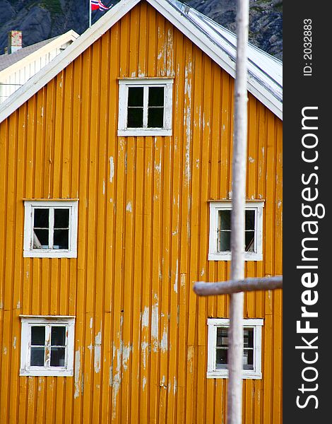
[[(24, 244), (23, 257), (35, 258), (76, 258), (77, 257), (77, 200), (29, 200), (24, 201)], [(35, 208), (69, 208), (69, 249), (33, 249), (33, 213)], [(52, 231), (52, 223), (51, 223)]]

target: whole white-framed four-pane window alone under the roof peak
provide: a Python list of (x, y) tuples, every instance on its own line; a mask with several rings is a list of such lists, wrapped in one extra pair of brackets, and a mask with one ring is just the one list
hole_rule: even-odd
[(119, 80), (119, 136), (172, 135), (173, 78)]

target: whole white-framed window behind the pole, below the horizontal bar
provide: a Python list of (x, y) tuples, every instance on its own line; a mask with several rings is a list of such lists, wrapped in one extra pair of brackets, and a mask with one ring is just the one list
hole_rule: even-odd
[[(228, 330), (227, 318), (208, 318), (208, 372), (210, 378), (227, 378)], [(243, 320), (242, 378), (261, 379), (261, 328), (263, 319)]]

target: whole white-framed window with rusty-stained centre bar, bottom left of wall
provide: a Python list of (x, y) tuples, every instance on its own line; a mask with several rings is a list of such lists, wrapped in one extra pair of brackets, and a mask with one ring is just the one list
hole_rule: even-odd
[(20, 375), (72, 376), (75, 317), (20, 318)]

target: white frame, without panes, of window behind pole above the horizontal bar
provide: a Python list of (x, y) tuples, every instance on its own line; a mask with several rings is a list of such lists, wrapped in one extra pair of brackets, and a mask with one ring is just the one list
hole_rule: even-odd
[[(244, 252), (246, 261), (263, 260), (263, 201), (247, 201), (246, 211), (255, 211), (255, 240), (254, 252)], [(211, 201), (210, 202), (210, 235), (208, 260), (210, 261), (231, 261), (231, 252), (219, 252), (218, 247), (218, 213), (219, 211), (232, 210), (231, 201)]]

